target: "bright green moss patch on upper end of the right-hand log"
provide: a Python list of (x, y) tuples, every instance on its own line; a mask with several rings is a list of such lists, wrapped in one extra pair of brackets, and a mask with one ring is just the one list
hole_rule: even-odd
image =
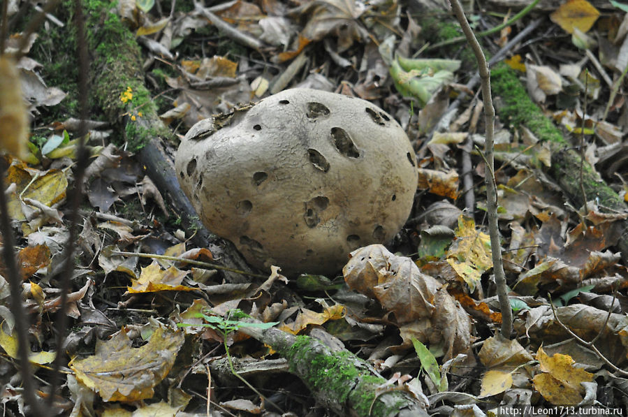
[(509, 66), (506, 64), (495, 66), (491, 70), (490, 85), (493, 94), (499, 96), (502, 103), (496, 106), (502, 122), (515, 127), (526, 126), (541, 140), (566, 143), (560, 129), (543, 115)]

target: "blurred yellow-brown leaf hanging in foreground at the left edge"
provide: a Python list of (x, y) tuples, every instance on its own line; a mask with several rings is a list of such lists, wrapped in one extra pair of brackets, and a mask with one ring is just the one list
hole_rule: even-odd
[(20, 73), (15, 60), (6, 54), (0, 57), (0, 126), (0, 152), (27, 158), (29, 119), (22, 98)]

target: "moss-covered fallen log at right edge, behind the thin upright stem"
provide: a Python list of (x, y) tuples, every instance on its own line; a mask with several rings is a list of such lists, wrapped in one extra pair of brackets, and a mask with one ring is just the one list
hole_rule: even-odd
[[(493, 94), (499, 96), (497, 114), (503, 122), (525, 126), (540, 140), (550, 144), (551, 166), (547, 174), (562, 188), (576, 207), (585, 203), (580, 188), (580, 154), (564, 138), (560, 129), (545, 115), (527, 94), (516, 73), (506, 64), (499, 64), (491, 73)], [(611, 189), (587, 161), (583, 165), (583, 189), (586, 200), (598, 200), (601, 210), (625, 212), (628, 207), (619, 194)], [(628, 261), (628, 220), (622, 221), (622, 235), (618, 242), (624, 261)]]

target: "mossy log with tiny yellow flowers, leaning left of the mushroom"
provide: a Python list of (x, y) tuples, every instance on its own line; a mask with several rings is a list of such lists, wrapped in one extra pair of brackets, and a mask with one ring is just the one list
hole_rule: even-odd
[[(196, 211), (179, 186), (173, 157), (169, 154), (171, 147), (166, 145), (174, 141), (174, 135), (159, 119), (145, 86), (142, 53), (135, 36), (119, 20), (115, 10), (111, 10), (112, 3), (90, 1), (86, 7), (94, 103), (124, 133), (126, 149), (136, 152), (138, 161), (157, 188), (170, 198), (184, 228), (195, 233), (194, 242), (200, 247), (209, 247), (223, 265), (249, 270), (231, 242), (221, 240), (200, 224)], [(231, 282), (247, 280), (233, 272), (224, 274)]]

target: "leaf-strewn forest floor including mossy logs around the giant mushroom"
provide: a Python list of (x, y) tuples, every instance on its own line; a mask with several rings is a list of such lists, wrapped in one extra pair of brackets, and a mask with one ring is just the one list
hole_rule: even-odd
[[(390, 393), (430, 415), (627, 409), (628, 5), (536, 1), (517, 15), (521, 7), (496, 0), (467, 10), (494, 61), (499, 229), (514, 316), (508, 338), (499, 333), (485, 212), (477, 64), (447, 1), (86, 1), (91, 59), (111, 41), (98, 36), (120, 22), (133, 48), (140, 45), (138, 64), (125, 68), (137, 68), (143, 85), (120, 73), (107, 99), (98, 98), (98, 80), (120, 63), (92, 66), (94, 90), (79, 87), (72, 2), (48, 10), (27, 40), (20, 29), (36, 10), (29, 1), (6, 3), (3, 47), (23, 47), (17, 70), (29, 105), (7, 104), (15, 101), (11, 82), (0, 82), (0, 103), (12, 117), (26, 111), (30, 129), (22, 159), (0, 140), (13, 221), (0, 243), (15, 242), (21, 286), (10, 291), (3, 258), (6, 415), (34, 415), (24, 391), (45, 400), (57, 356), (59, 415), (404, 415), (407, 404), (398, 413), (373, 407)], [(173, 161), (199, 120), (293, 87), (379, 106), (416, 154), (407, 158), (418, 186), (400, 231), (386, 236), (386, 247), (354, 245), (351, 259), (342, 254), (346, 267), (323, 266), (333, 270), (324, 275), (300, 270), (296, 260), (284, 272), (226, 265), (226, 256), (241, 259), (233, 245), (213, 235), (203, 245), (199, 226), (138, 159), (152, 145), (130, 140), (141, 136), (150, 108), (166, 126), (155, 136)], [(84, 128), (89, 165), (77, 183)], [(405, 155), (399, 163), (408, 163)], [(75, 195), (82, 200), (68, 241)], [(69, 323), (57, 329), (68, 247)], [(25, 320), (16, 317), (16, 298)], [(20, 320), (35, 388), (24, 384), (19, 362)], [(321, 356), (337, 362), (296, 354), (312, 339), (293, 335), (321, 342)], [(334, 386), (348, 380), (331, 382), (326, 372), (348, 364), (365, 374), (348, 376), (356, 386)], [(363, 381), (374, 388), (366, 407), (344, 395)]]

